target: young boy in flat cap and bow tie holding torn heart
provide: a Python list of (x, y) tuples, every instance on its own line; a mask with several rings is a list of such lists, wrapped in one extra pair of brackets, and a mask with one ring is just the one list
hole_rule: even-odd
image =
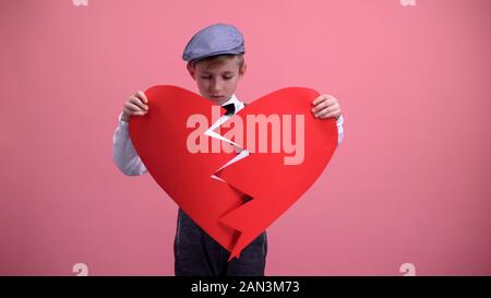
[[(182, 55), (200, 94), (227, 109), (223, 117), (231, 117), (244, 107), (235, 95), (247, 70), (244, 52), (243, 36), (236, 27), (215, 24), (197, 32)], [(144, 117), (148, 112), (147, 103), (145, 94), (140, 91), (127, 99), (119, 117), (113, 135), (113, 158), (125, 175), (147, 171), (133, 147), (128, 128), (130, 117)], [(312, 114), (320, 119), (336, 118), (339, 144), (343, 140), (343, 117), (337, 99), (321, 95), (312, 102)], [(227, 262), (229, 252), (179, 208), (173, 250), (177, 276), (261, 276), (264, 275), (267, 253), (266, 233), (243, 249), (239, 259)]]

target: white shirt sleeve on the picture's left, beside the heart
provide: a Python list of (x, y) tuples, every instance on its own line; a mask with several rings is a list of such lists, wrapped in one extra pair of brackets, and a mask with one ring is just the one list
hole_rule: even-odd
[(129, 123), (121, 120), (119, 115), (118, 127), (112, 136), (112, 158), (122, 174), (128, 176), (139, 176), (147, 171), (142, 159), (134, 150), (130, 139)]

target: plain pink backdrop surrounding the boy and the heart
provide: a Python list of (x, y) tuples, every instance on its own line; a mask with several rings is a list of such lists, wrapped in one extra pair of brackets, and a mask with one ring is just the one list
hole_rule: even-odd
[[(0, 274), (172, 275), (176, 204), (112, 162), (125, 98), (197, 91), (189, 38), (246, 36), (237, 95), (337, 97), (345, 140), (268, 229), (267, 275), (491, 274), (491, 1), (1, 1)], [(170, 170), (170, 169), (169, 169)]]

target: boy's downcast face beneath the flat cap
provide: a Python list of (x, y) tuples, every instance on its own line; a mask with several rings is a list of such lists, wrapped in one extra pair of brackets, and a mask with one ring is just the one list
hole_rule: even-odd
[(188, 64), (188, 71), (196, 81), (201, 95), (218, 105), (230, 99), (246, 69), (246, 63), (239, 67), (237, 56)]

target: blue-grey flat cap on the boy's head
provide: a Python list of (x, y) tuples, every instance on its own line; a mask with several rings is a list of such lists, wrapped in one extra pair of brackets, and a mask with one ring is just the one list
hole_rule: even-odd
[(182, 53), (184, 61), (211, 56), (246, 52), (243, 35), (232, 25), (215, 24), (199, 31)]

